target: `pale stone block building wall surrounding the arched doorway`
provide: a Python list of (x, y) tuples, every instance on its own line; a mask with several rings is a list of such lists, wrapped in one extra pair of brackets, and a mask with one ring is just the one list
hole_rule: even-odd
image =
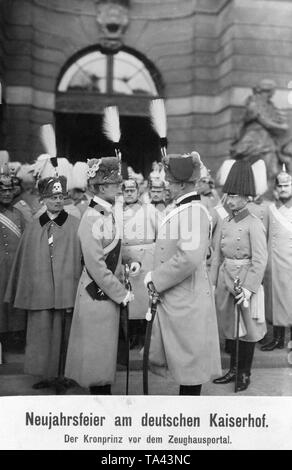
[[(12, 159), (33, 160), (41, 151), (39, 126), (54, 121), (61, 69), (99, 44), (96, 6), (93, 0), (2, 0), (0, 6), (3, 145)], [(215, 171), (261, 78), (276, 81), (275, 102), (291, 114), (292, 2), (132, 0), (130, 18), (125, 45), (152, 61), (165, 85), (170, 152), (196, 149)]]

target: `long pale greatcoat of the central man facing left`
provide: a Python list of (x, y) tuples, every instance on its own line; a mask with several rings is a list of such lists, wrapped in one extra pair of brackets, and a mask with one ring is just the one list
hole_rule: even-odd
[(220, 374), (221, 363), (206, 267), (211, 218), (199, 201), (184, 203), (188, 196), (168, 214), (158, 233), (152, 280), (161, 300), (149, 360), (167, 367), (178, 384), (199, 385)]

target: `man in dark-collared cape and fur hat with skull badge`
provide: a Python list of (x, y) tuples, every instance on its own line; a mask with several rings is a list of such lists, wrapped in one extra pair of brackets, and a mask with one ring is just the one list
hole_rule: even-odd
[(63, 209), (66, 178), (43, 178), (38, 189), (46, 211), (23, 233), (5, 295), (28, 311), (24, 372), (42, 377), (36, 389), (59, 375), (81, 274), (79, 220)]

